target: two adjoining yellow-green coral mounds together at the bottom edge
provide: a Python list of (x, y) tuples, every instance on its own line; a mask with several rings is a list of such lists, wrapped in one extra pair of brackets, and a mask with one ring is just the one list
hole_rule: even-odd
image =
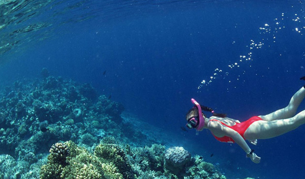
[[(70, 155), (62, 157), (59, 153)], [(40, 178), (133, 178), (128, 166), (125, 153), (118, 146), (99, 145), (92, 155), (72, 141), (58, 142), (50, 150), (48, 163), (41, 167)]]

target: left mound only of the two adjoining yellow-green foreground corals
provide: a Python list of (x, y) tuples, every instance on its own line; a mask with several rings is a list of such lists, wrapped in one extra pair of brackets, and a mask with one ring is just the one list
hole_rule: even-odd
[(102, 163), (85, 149), (77, 147), (72, 141), (58, 142), (53, 145), (48, 156), (48, 164), (43, 165), (40, 172), (41, 179), (98, 179), (102, 176)]

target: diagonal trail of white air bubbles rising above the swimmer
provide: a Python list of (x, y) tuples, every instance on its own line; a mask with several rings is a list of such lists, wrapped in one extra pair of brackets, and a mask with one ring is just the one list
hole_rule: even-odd
[[(236, 59), (234, 63), (228, 64), (227, 68), (225, 69), (216, 68), (208, 79), (203, 79), (201, 81), (201, 83), (197, 88), (197, 92), (201, 92), (202, 88), (211, 85), (215, 80), (224, 80), (227, 83), (231, 83), (233, 79), (240, 80), (240, 76), (246, 74), (246, 71), (243, 70), (241, 66), (247, 65), (251, 67), (251, 61), (254, 60), (252, 58), (253, 54), (256, 52), (256, 50), (263, 48), (263, 46), (265, 45), (264, 42), (276, 43), (277, 40), (276, 34), (279, 31), (281, 31), (281, 29), (286, 28), (284, 23), (284, 21), (286, 20), (291, 20), (295, 23), (295, 27), (291, 29), (292, 31), (297, 32), (300, 35), (303, 35), (305, 24), (302, 22), (302, 20), (305, 20), (305, 17), (299, 16), (298, 14), (294, 14), (293, 17), (291, 18), (285, 16), (285, 13), (282, 13), (279, 18), (273, 19), (273, 22), (265, 23), (264, 25), (258, 28), (259, 34), (261, 34), (260, 36), (265, 37), (264, 34), (268, 34), (266, 38), (261, 38), (259, 41), (250, 40), (250, 44), (246, 46), (246, 48), (248, 48), (249, 50), (249, 53), (240, 55), (239, 59)], [(232, 44), (235, 44), (235, 41)], [(270, 45), (268, 45), (268, 47), (270, 47)], [(304, 56), (305, 55), (303, 55), (303, 57)], [(235, 76), (234, 77), (231, 76), (230, 70), (233, 68), (234, 69), (239, 68), (240, 75), (236, 76), (236, 73), (234, 73)], [(301, 69), (303, 68), (304, 67), (301, 66)], [(229, 88), (227, 88), (227, 91), (229, 91)]]

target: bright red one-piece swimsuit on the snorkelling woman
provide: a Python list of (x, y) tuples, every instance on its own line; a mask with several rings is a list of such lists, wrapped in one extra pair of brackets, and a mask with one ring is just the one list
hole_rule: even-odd
[[(218, 121), (220, 122), (222, 125), (227, 126), (233, 130), (235, 130), (236, 132), (238, 132), (243, 139), (245, 139), (245, 137), (243, 137), (243, 134), (245, 134), (246, 130), (248, 129), (248, 127), (254, 123), (255, 121), (260, 121), (262, 120), (262, 118), (258, 117), (258, 116), (254, 116), (250, 119), (248, 119), (247, 121), (241, 122), (241, 123), (236, 123), (234, 126), (228, 126), (227, 124), (221, 122), (220, 120), (217, 119), (211, 119), (210, 121)], [(223, 137), (217, 137), (214, 134), (212, 134), (217, 140), (222, 141), (222, 142), (230, 142), (230, 143), (234, 143), (235, 141), (233, 140), (233, 138), (228, 137), (228, 136), (223, 136)]]

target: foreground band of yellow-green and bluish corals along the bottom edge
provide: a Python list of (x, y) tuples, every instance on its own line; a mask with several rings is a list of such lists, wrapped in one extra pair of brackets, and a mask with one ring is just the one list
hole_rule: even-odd
[[(57, 142), (50, 149), (47, 164), (41, 167), (40, 178), (226, 178), (214, 165), (197, 155), (191, 158), (191, 154), (181, 147), (165, 150), (165, 146), (157, 144), (121, 146), (114, 138), (105, 138), (94, 153), (71, 140)], [(169, 161), (175, 170), (168, 169)]]

